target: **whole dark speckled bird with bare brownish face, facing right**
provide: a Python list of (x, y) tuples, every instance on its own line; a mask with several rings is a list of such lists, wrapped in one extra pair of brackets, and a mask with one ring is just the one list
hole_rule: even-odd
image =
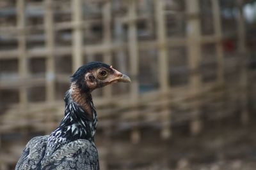
[(103, 62), (79, 67), (65, 93), (65, 113), (60, 125), (49, 135), (32, 138), (15, 169), (99, 169), (94, 143), (98, 120), (91, 93), (116, 82), (131, 79)]

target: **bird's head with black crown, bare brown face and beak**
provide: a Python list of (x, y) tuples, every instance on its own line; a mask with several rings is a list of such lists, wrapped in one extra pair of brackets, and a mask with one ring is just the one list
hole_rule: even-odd
[(79, 67), (71, 77), (71, 83), (76, 83), (83, 92), (104, 87), (115, 82), (130, 82), (129, 76), (120, 73), (112, 66), (102, 62), (89, 62)]

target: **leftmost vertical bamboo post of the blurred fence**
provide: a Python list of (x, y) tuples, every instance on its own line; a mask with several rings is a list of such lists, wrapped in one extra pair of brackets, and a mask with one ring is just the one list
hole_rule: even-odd
[[(25, 4), (24, 0), (17, 0), (17, 27), (18, 27), (18, 51), (19, 51), (19, 76), (20, 79), (28, 78), (28, 60), (26, 58), (26, 31), (25, 31)], [(26, 108), (28, 94), (26, 87), (19, 89), (20, 107)]]

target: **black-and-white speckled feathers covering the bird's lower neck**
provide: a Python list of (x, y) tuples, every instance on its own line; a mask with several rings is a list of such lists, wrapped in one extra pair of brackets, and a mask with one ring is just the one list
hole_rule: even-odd
[[(70, 94), (67, 94), (68, 96)], [(93, 106), (93, 103), (92, 103)], [(93, 121), (86, 117), (86, 112), (76, 103), (66, 105), (65, 117), (60, 126), (51, 133), (47, 141), (45, 157), (50, 156), (61, 145), (65, 145), (76, 139), (88, 139), (93, 141), (97, 128), (97, 114), (93, 108)]]

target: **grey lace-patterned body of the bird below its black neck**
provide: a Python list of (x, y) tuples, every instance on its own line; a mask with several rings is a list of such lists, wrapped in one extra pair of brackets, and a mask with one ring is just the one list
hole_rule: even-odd
[(77, 139), (44, 157), (49, 136), (38, 136), (24, 148), (15, 169), (99, 169), (97, 149), (93, 142)]

